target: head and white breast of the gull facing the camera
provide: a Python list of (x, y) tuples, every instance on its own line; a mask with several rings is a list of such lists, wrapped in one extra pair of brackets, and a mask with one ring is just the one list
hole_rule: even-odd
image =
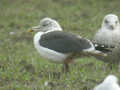
[(115, 47), (120, 42), (120, 23), (118, 16), (108, 14), (104, 17), (101, 28), (94, 36), (94, 42), (102, 47)]

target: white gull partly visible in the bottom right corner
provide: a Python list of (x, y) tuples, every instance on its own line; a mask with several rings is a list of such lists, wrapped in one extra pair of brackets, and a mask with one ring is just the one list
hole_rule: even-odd
[(118, 79), (114, 75), (108, 75), (105, 80), (93, 90), (120, 90)]

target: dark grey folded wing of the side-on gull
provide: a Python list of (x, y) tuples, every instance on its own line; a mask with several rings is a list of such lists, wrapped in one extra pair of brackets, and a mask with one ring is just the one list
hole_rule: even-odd
[(62, 31), (46, 33), (41, 36), (39, 42), (41, 46), (61, 53), (80, 52), (91, 47), (88, 40)]

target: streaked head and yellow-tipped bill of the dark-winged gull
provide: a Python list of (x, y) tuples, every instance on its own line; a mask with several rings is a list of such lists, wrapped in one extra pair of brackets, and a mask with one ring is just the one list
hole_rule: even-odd
[(38, 26), (32, 27), (29, 32), (47, 32), (55, 30), (62, 31), (62, 28), (56, 20), (46, 17), (40, 20), (40, 24)]

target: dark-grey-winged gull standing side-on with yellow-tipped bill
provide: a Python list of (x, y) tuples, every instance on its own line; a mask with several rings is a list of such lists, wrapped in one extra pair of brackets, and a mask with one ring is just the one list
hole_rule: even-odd
[(34, 36), (34, 46), (40, 55), (49, 61), (63, 63), (68, 71), (72, 59), (90, 55), (104, 55), (95, 50), (90, 40), (70, 32), (63, 32), (57, 21), (44, 18), (40, 25), (32, 27), (30, 32), (38, 31)]

